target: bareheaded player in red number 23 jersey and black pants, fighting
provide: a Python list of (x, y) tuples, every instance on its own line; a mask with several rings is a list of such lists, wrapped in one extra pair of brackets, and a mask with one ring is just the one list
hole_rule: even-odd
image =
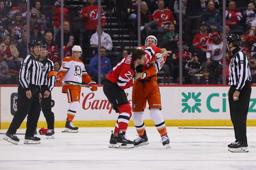
[(128, 103), (124, 89), (131, 87), (134, 81), (140, 78), (141, 73), (136, 72), (136, 70), (143, 67), (144, 63), (146, 63), (145, 52), (140, 49), (134, 50), (132, 55), (127, 55), (110, 71), (103, 85), (104, 94), (116, 113), (119, 113), (116, 121), (117, 133), (113, 134), (116, 141), (113, 144), (110, 143), (109, 147), (134, 147), (134, 142), (125, 135), (132, 116), (132, 107)]

